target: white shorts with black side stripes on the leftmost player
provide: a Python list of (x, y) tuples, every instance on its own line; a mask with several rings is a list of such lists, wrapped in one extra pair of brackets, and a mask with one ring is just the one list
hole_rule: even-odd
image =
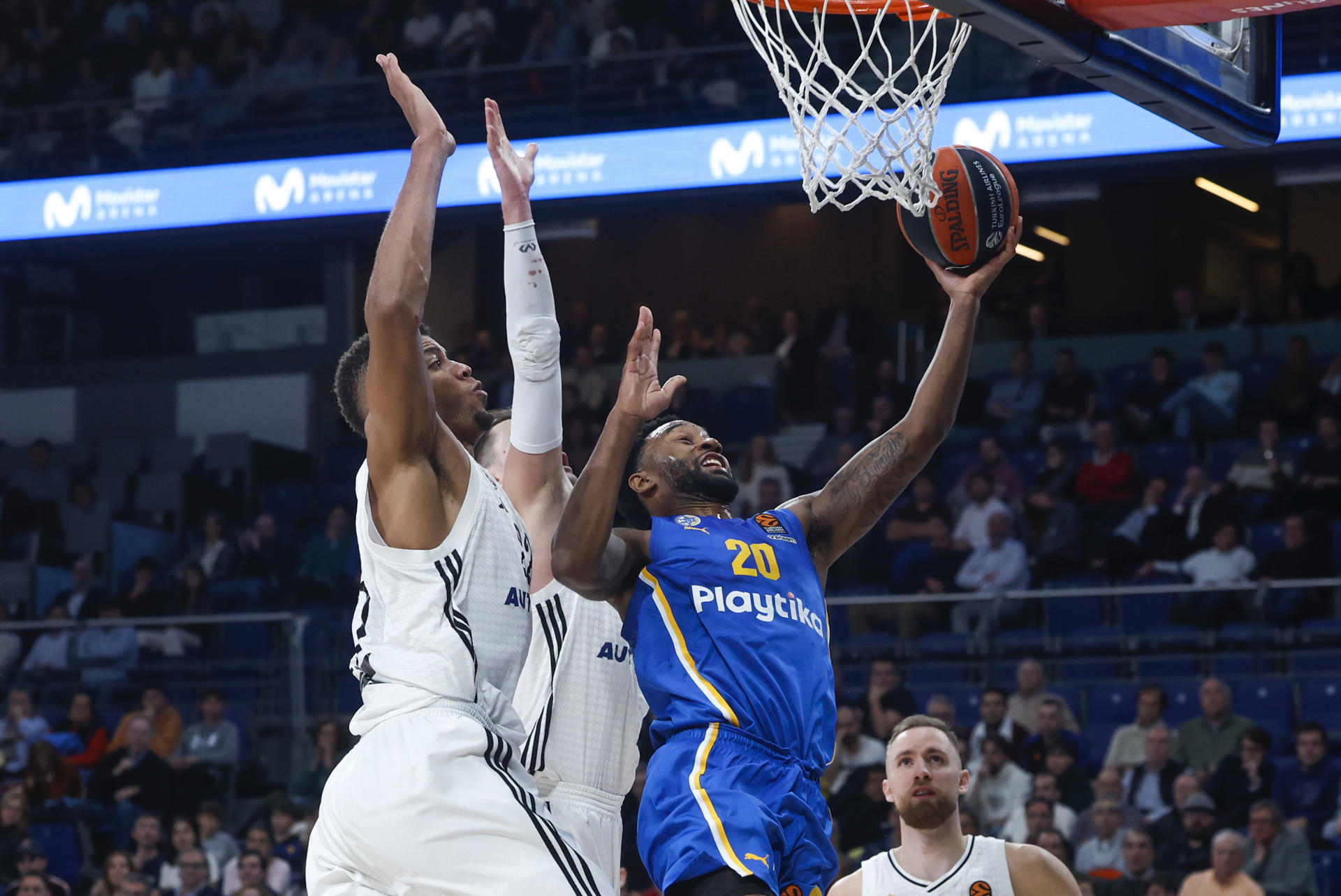
[(394, 716), (331, 773), (307, 849), (310, 896), (613, 896), (472, 704)]

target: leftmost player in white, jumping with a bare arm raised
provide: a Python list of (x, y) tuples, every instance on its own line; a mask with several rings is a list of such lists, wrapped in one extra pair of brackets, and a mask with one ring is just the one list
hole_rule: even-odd
[(489, 423), (465, 365), (421, 334), (443, 166), (456, 141), (377, 58), (414, 131), (363, 306), (341, 412), (367, 439), (355, 527), (363, 581), (358, 746), (331, 773), (307, 853), (314, 896), (611, 893), (566, 844), (516, 759), (531, 637), (531, 543), (469, 448)]

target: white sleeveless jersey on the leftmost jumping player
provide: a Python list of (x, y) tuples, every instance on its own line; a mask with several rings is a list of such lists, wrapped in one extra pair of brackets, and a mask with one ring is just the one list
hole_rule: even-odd
[(512, 695), (531, 640), (531, 539), (503, 490), (471, 460), (452, 531), (430, 550), (389, 547), (367, 504), (367, 463), (355, 479), (362, 582), (354, 659), (363, 706), (350, 731), (433, 706), (473, 703), (520, 746)]

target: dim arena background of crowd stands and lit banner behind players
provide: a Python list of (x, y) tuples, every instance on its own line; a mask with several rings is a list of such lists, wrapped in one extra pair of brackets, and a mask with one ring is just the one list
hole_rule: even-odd
[[(897, 844), (884, 740), (927, 712), (966, 826), (1086, 892), (1177, 893), (1232, 829), (1269, 896), (1341, 896), (1341, 11), (1279, 30), (1279, 139), (1238, 149), (968, 40), (936, 145), (1010, 165), (1025, 232), (952, 435), (829, 577), (843, 873)], [(304, 892), (359, 706), (331, 378), (409, 158), (386, 51), (460, 144), (425, 322), (491, 406), (483, 99), (540, 145), (575, 471), (638, 304), (738, 515), (821, 487), (931, 362), (947, 302), (897, 205), (811, 213), (728, 0), (0, 1), (9, 892), (166, 896), (192, 841), (223, 896)]]

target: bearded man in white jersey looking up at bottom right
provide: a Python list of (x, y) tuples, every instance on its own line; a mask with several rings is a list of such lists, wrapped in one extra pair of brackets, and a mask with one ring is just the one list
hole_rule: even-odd
[(885, 775), (901, 845), (864, 861), (829, 896), (1080, 896), (1075, 879), (1051, 853), (959, 830), (968, 770), (940, 719), (913, 715), (894, 726)]

